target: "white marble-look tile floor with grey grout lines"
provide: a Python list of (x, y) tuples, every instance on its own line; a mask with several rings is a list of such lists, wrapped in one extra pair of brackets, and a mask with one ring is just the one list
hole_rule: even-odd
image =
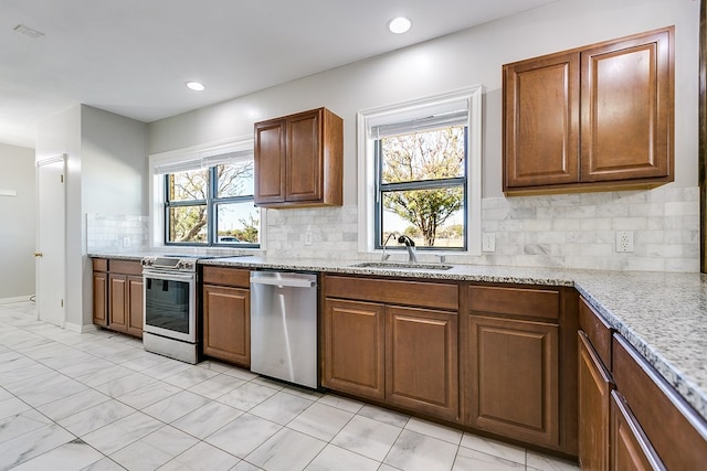
[[(158, 467), (165, 470), (180, 469), (187, 465), (190, 459), (193, 459), (192, 454), (194, 453), (190, 454), (190, 450), (197, 450), (197, 448), (199, 448), (199, 451), (211, 450), (205, 454), (208, 459), (214, 460), (214, 463), (219, 461), (213, 469), (238, 471), (287, 469), (283, 468), (282, 460), (292, 460), (292, 463), (297, 462), (302, 469), (312, 467), (312, 469), (316, 470), (414, 470), (423, 469), (421, 468), (424, 465), (422, 463), (425, 463), (424, 460), (429, 459), (425, 454), (431, 453), (440, 453), (439, 462), (445, 461), (449, 463), (446, 468), (439, 469), (465, 471), (484, 462), (493, 462), (498, 469), (531, 469), (528, 450), (526, 449), (523, 449), (524, 463), (513, 463), (507, 461), (507, 458), (504, 458), (503, 450), (516, 450), (518, 452), (518, 447), (506, 446), (493, 440), (488, 441), (481, 437), (476, 438), (486, 440), (482, 441), (482, 443), (493, 442), (494, 450), (496, 448), (502, 450), (498, 454), (489, 454), (488, 451), (494, 451), (490, 450), (492, 446), (487, 446), (485, 451), (464, 447), (465, 436), (469, 435), (461, 430), (458, 430), (460, 435), (456, 442), (451, 442), (440, 438), (440, 436), (444, 436), (442, 429), (457, 431), (449, 427), (414, 419), (420, 421), (421, 425), (418, 427), (422, 427), (422, 430), (424, 430), (424, 427), (432, 427), (433, 429), (440, 427), (437, 436), (429, 435), (429, 430), (428, 433), (415, 430), (411, 426), (413, 418), (410, 416), (387, 411), (376, 406), (369, 406), (365, 403), (328, 393), (321, 394), (308, 389), (299, 390), (296, 386), (260, 377), (247, 371), (217, 361), (207, 361), (196, 366), (182, 367), (182, 364), (173, 360), (145, 352), (141, 350), (139, 340), (104, 330), (83, 334), (67, 332), (57, 327), (36, 321), (34, 312), (34, 307), (31, 302), (0, 304), (0, 358), (2, 358), (3, 353), (10, 353), (10, 355), (18, 355), (17, 358), (10, 361), (29, 360), (32, 363), (28, 363), (31, 366), (35, 366), (38, 375), (43, 374), (39, 372), (46, 373), (42, 376), (44, 377), (44, 384), (63, 384), (65, 387), (73, 385), (71, 386), (72, 389), (76, 388), (77, 390), (65, 396), (61, 394), (61, 390), (55, 390), (51, 387), (42, 388), (40, 385), (38, 385), (38, 389), (31, 388), (31, 390), (27, 390), (19, 383), (30, 383), (31, 377), (18, 382), (8, 382), (7, 379), (15, 374), (20, 375), (22, 370), (30, 366), (19, 367), (15, 371), (12, 370), (12, 365), (9, 365), (10, 370), (6, 371), (0, 360), (0, 378), (3, 378), (2, 383), (0, 383), (2, 384), (0, 393), (4, 393), (0, 394), (0, 411), (3, 410), (3, 403), (12, 398), (19, 399), (24, 407), (29, 408), (17, 414), (12, 411), (4, 413), (3, 415), (7, 415), (7, 417), (0, 417), (0, 430), (4, 427), (10, 431), (15, 429), (18, 431), (17, 435), (9, 433), (12, 436), (11, 439), (3, 440), (2, 436), (0, 436), (0, 469), (4, 469), (3, 467), (7, 465), (20, 465), (22, 468), (22, 463), (25, 467), (31, 467), (33, 462), (40, 463), (44, 462), (42, 460), (59, 459), (56, 457), (67, 460), (65, 463), (66, 469), (109, 470), (130, 469), (131, 465), (145, 468), (146, 465), (152, 465), (152, 463), (139, 462), (138, 464), (133, 461), (135, 457), (130, 454), (144, 450), (146, 447), (154, 448), (154, 439), (150, 437), (169, 436), (169, 433), (172, 433), (175, 438), (169, 443), (160, 442), (159, 447), (177, 448), (175, 450), (170, 449), (169, 452), (158, 448), (162, 453), (160, 454), (162, 459), (165, 457), (169, 457), (169, 459), (165, 462), (155, 462), (154, 469)], [(87, 356), (84, 357), (84, 355)], [(124, 355), (128, 360), (116, 361), (115, 355)], [(67, 363), (64, 364), (64, 362)], [(95, 367), (92, 362), (101, 363), (103, 366)], [(106, 363), (104, 364), (103, 362)], [(129, 365), (126, 366), (126, 364)], [(99, 373), (113, 367), (116, 367), (115, 376), (107, 376), (103, 381), (104, 377)], [(193, 370), (194, 367), (201, 368), (203, 372)], [(84, 368), (86, 373), (83, 373)], [(124, 372), (120, 368), (125, 368), (128, 372)], [(151, 375), (145, 373), (148, 371), (151, 371)], [(161, 374), (166, 374), (166, 376), (161, 376)], [(149, 381), (144, 379), (141, 376)], [(234, 384), (238, 385), (233, 388), (225, 386), (223, 388), (225, 392), (222, 392), (219, 389), (220, 382), (228, 384), (226, 378), (233, 378)], [(94, 384), (92, 379), (102, 382)], [(171, 383), (166, 379), (171, 379)], [(143, 381), (146, 381), (146, 383), (143, 384)], [(211, 387), (211, 384), (208, 384), (209, 382), (213, 384), (213, 393), (209, 390), (209, 387)], [(186, 387), (182, 387), (182, 385)], [(8, 389), (8, 386), (12, 390)], [(198, 386), (202, 387), (199, 388)], [(201, 394), (197, 390), (201, 392)], [(19, 392), (19, 394), (14, 392)], [(81, 396), (82, 394), (91, 395), (89, 392), (103, 395), (105, 400), (86, 408), (82, 408), (83, 404), (73, 404), (84, 397)], [(150, 396), (150, 393), (152, 393), (152, 396)], [(163, 396), (162, 393), (165, 394)], [(189, 394), (186, 395), (184, 393)], [(281, 396), (281, 393), (284, 396)], [(141, 407), (130, 405), (130, 399), (133, 399), (134, 404), (141, 404), (136, 398), (138, 394), (145, 394), (144, 402), (149, 404)], [(177, 396), (180, 397), (178, 398)], [(28, 402), (25, 398), (31, 398), (31, 400)], [(98, 398), (101, 397), (98, 396)], [(44, 403), (46, 399), (51, 400)], [(182, 400), (183, 404), (178, 399)], [(117, 413), (117, 410), (107, 409), (107, 403), (112, 400), (115, 402), (112, 404), (122, 406), (116, 407), (123, 413), (129, 409), (129, 414), (126, 413), (120, 417), (109, 416), (104, 419), (106, 420), (105, 424), (99, 424), (97, 428), (92, 428), (93, 425), (97, 424), (89, 424), (89, 427), (87, 427), (89, 431), (78, 436), (62, 425), (71, 424), (71, 420), (67, 420), (68, 417), (74, 417), (78, 414), (89, 416), (94, 411), (93, 409), (119, 415), (120, 413)], [(317, 417), (317, 409), (313, 408), (315, 404), (333, 407), (333, 409), (324, 409), (330, 411), (323, 419)], [(49, 410), (52, 405), (54, 407), (65, 407), (65, 410), (71, 410), (71, 415), (63, 418), (59, 417), (55, 420), (40, 410)], [(242, 405), (243, 408), (234, 405)], [(347, 405), (349, 406), (347, 407)], [(178, 409), (178, 407), (181, 407), (181, 409)], [(228, 414), (234, 414), (235, 417), (224, 424), (220, 424), (218, 422), (218, 417), (203, 416), (207, 414), (205, 410), (210, 410), (204, 409), (208, 407), (217, 408), (219, 411), (229, 411)], [(336, 424), (331, 424), (334, 410), (337, 410), (337, 415), (340, 414), (341, 417), (347, 417), (346, 420), (339, 424), (337, 419)], [(42, 426), (41, 429), (20, 432), (24, 427), (22, 425), (24, 421), (22, 415), (28, 415), (30, 411), (40, 414), (49, 424)], [(138, 413), (144, 415), (146, 420), (151, 420), (150, 424), (156, 427), (155, 430), (149, 430), (146, 435), (140, 436), (138, 433), (135, 436), (137, 438), (129, 435), (131, 431), (127, 431), (127, 438), (122, 439), (127, 440), (127, 442), (116, 441), (113, 446), (101, 445), (99, 448), (95, 448), (84, 441), (84, 437), (97, 431), (101, 432), (92, 437), (112, 435), (110, 432), (116, 427), (124, 424), (120, 420)], [(138, 420), (140, 417), (143, 416), (135, 417), (133, 420)], [(278, 418), (277, 422), (273, 421), (271, 417)], [(401, 420), (399, 421), (394, 417), (399, 417)], [(91, 416), (91, 418), (98, 420), (98, 416)], [(327, 418), (329, 419), (328, 421), (326, 420)], [(126, 424), (129, 424), (129, 421), (126, 420)], [(211, 429), (211, 424), (214, 424), (215, 428)], [(330, 424), (331, 427), (329, 429), (327, 426)], [(241, 428), (242, 425), (247, 425), (251, 428), (244, 430)], [(158, 432), (161, 432), (161, 435)], [(38, 433), (45, 433), (39, 442), (22, 443), (22, 440), (19, 439), (21, 437), (33, 438)], [(299, 440), (297, 441), (299, 443), (298, 449), (292, 449), (294, 445), (288, 443), (287, 439), (282, 437), (287, 437), (288, 440)], [(324, 440), (321, 437), (329, 438)], [(231, 440), (232, 438), (233, 440)], [(247, 442), (247, 447), (244, 445), (245, 442)], [(444, 443), (449, 445), (449, 447)], [(10, 445), (14, 448), (11, 448)], [(118, 448), (113, 450), (115, 447)], [(187, 448), (182, 450), (180, 447)], [(418, 448), (424, 450), (424, 453), (418, 452)], [(450, 453), (444, 454), (443, 448)], [(113, 451), (106, 454), (101, 449), (112, 449)], [(454, 450), (453, 456), (451, 450)], [(510, 453), (511, 451), (507, 452)], [(199, 454), (201, 459), (204, 457), (203, 453), (196, 454)], [(2, 458), (3, 456), (6, 458)], [(373, 456), (380, 459), (372, 458)], [(577, 469), (577, 467), (550, 457), (544, 457), (542, 459), (547, 460), (548, 467), (551, 467), (549, 469)], [(298, 460), (303, 462), (300, 463)], [(89, 465), (84, 468), (83, 464), (86, 461), (89, 461)], [(76, 468), (72, 468), (73, 465)], [(258, 465), (265, 468), (257, 468)], [(505, 468), (503, 468), (504, 465)]]

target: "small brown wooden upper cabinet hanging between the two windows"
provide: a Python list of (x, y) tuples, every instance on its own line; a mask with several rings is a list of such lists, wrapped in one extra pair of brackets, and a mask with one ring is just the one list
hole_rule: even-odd
[(344, 121), (326, 108), (255, 124), (255, 205), (342, 203)]

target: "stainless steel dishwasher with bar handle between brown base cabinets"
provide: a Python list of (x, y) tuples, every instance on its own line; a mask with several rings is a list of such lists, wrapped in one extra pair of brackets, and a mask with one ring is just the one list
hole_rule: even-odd
[(251, 371), (318, 387), (317, 276), (251, 272)]

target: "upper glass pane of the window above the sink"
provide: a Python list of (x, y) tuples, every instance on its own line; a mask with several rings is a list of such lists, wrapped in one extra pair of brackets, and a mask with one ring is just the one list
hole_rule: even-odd
[(464, 126), (381, 139), (382, 182), (464, 176)]

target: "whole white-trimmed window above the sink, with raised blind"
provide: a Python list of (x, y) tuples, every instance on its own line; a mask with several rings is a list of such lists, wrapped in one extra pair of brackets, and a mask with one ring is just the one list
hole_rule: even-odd
[(359, 179), (361, 251), (481, 254), (481, 87), (361, 111)]

